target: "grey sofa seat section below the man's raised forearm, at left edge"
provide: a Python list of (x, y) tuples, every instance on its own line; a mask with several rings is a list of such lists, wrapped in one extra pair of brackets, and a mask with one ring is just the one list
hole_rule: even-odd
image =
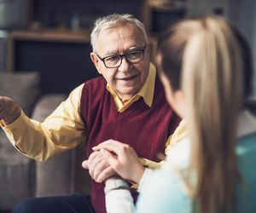
[(15, 150), (0, 130), (0, 212), (34, 196), (35, 177), (34, 161)]

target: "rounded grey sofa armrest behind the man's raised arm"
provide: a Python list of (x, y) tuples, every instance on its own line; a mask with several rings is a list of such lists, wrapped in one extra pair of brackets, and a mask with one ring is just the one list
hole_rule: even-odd
[[(56, 107), (66, 99), (66, 95), (44, 95), (36, 104), (32, 118), (44, 121)], [(74, 191), (75, 150), (70, 150), (49, 158), (45, 162), (37, 162), (36, 196), (55, 196), (69, 194)]]

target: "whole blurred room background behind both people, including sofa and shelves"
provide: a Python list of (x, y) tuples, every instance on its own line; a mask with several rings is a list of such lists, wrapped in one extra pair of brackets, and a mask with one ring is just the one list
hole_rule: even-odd
[[(98, 75), (90, 61), (96, 18), (134, 14), (154, 44), (166, 26), (186, 17), (218, 14), (247, 38), (256, 67), (255, 0), (0, 0), (0, 95), (42, 121), (67, 94)], [(249, 107), (256, 113), (256, 72)], [(81, 167), (84, 144), (46, 162), (18, 153), (0, 130), (0, 212), (31, 197), (89, 193)]]

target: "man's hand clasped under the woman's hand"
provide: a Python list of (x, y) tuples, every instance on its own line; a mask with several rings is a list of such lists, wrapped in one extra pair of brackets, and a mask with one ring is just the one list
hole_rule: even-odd
[(109, 177), (116, 175), (108, 161), (98, 151), (91, 153), (88, 160), (82, 162), (82, 166), (89, 170), (91, 178), (96, 182), (106, 181)]

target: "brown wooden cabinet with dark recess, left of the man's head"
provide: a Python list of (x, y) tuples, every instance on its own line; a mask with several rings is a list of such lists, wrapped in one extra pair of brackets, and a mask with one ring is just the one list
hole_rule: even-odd
[(9, 71), (37, 71), (43, 93), (69, 93), (98, 76), (90, 60), (88, 31), (14, 31), (9, 35)]

